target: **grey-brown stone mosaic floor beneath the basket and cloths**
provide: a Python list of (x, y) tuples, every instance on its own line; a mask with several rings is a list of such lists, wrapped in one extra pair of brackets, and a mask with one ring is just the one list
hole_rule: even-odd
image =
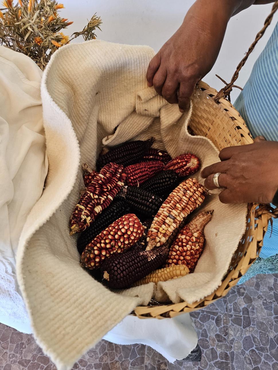
[[(144, 345), (102, 341), (75, 370), (278, 370), (278, 275), (257, 275), (224, 299), (191, 314), (202, 348), (200, 363), (169, 364)], [(34, 342), (0, 324), (0, 370), (55, 370)]]

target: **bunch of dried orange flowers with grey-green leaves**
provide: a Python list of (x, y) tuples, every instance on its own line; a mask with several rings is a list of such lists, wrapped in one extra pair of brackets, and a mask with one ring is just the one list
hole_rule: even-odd
[(28, 55), (42, 70), (57, 48), (80, 35), (85, 40), (94, 39), (95, 30), (102, 23), (95, 14), (80, 33), (69, 37), (62, 31), (73, 22), (57, 14), (63, 4), (57, 0), (17, 1), (15, 4), (13, 0), (3, 1), (5, 10), (3, 13), (0, 10), (0, 45)]

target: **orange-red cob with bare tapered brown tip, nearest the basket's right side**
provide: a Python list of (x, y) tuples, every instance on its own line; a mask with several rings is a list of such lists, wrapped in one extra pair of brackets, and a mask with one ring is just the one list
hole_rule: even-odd
[(213, 211), (198, 213), (188, 225), (179, 232), (169, 250), (166, 266), (185, 265), (193, 272), (205, 245), (203, 230), (211, 220)]

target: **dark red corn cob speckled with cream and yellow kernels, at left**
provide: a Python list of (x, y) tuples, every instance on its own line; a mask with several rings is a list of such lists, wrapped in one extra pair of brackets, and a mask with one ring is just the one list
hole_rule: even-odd
[(123, 166), (109, 163), (86, 188), (70, 218), (70, 235), (85, 230), (109, 206), (124, 185)]

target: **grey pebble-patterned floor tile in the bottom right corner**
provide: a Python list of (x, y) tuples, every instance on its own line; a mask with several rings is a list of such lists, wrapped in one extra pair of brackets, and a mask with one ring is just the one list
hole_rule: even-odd
[[(244, 317), (229, 314), (229, 347), (232, 369), (272, 369), (278, 361), (278, 320), (249, 317), (249, 327), (244, 327)], [(274, 330), (275, 329), (275, 330)]]

